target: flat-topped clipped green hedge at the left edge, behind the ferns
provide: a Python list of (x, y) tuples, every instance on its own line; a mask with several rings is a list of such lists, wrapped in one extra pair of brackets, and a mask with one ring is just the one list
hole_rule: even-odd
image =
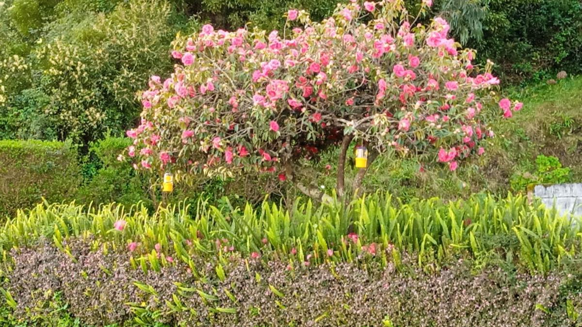
[(42, 200), (68, 199), (80, 182), (77, 151), (70, 143), (0, 141), (0, 215)]

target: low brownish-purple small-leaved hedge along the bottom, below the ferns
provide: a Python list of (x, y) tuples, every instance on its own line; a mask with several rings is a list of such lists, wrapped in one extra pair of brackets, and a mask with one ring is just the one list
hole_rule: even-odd
[[(511, 264), (448, 262), (438, 271), (403, 255), (397, 266), (349, 263), (293, 268), (288, 262), (194, 258), (159, 272), (133, 269), (130, 254), (70, 239), (73, 261), (47, 242), (12, 250), (4, 287), (13, 322), (56, 315), (81, 325), (148, 326), (569, 326), (580, 324), (578, 270), (517, 273)], [(98, 250), (95, 250), (98, 246)], [(65, 311), (55, 311), (55, 294)], [(48, 324), (47, 324), (48, 325)]]

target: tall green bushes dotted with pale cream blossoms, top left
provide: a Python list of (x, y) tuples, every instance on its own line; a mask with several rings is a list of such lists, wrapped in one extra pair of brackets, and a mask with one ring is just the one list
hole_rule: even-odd
[[(44, 2), (53, 3), (50, 15)], [(163, 0), (44, 2), (15, 3), (10, 12), (19, 15), (3, 25), (35, 24), (15, 27), (35, 37), (26, 54), (0, 58), (1, 136), (88, 144), (125, 130), (139, 114), (135, 93), (142, 86), (134, 81), (171, 67), (166, 50), (183, 16)], [(34, 3), (47, 16), (23, 19), (22, 6)]]

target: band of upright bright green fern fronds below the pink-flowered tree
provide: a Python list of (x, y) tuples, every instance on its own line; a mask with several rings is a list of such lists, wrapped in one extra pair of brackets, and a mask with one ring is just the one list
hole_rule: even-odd
[[(44, 237), (66, 252), (63, 240), (71, 236), (91, 235), (121, 248), (133, 241), (140, 244), (136, 262), (147, 260), (142, 268), (155, 271), (168, 265), (163, 258), (151, 255), (157, 243), (162, 250), (158, 247), (156, 251), (189, 264), (190, 250), (180, 245), (185, 240), (202, 256), (237, 251), (288, 258), (297, 260), (296, 264), (365, 264), (372, 259), (385, 265), (382, 258), (386, 253), (381, 249), (394, 247), (400, 252), (417, 253), (418, 266), (425, 269), (460, 255), (473, 259), (517, 258), (519, 269), (532, 273), (547, 272), (580, 252), (580, 224), (540, 202), (530, 205), (521, 196), (496, 200), (481, 195), (448, 203), (431, 198), (405, 204), (389, 195), (373, 194), (347, 205), (335, 200), (317, 208), (311, 201), (297, 200), (290, 211), (268, 201), (257, 209), (248, 204), (244, 208), (228, 207), (228, 201), (226, 204), (218, 209), (199, 200), (193, 211), (183, 204), (161, 207), (152, 215), (140, 205), (38, 205), (29, 212), (20, 211), (0, 231), (0, 246), (5, 250), (27, 247)], [(113, 229), (117, 221), (126, 222), (122, 232)], [(350, 232), (358, 240), (348, 237)], [(233, 249), (217, 247), (217, 239), (226, 240), (224, 244)], [(499, 240), (507, 240), (505, 246), (499, 247)], [(378, 256), (362, 257), (371, 251), (372, 244)], [(297, 249), (297, 257), (289, 255), (292, 248)], [(335, 254), (329, 255), (328, 250)]]

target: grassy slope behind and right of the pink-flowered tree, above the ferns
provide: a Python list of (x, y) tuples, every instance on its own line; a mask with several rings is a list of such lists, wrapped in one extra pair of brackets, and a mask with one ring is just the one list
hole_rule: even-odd
[[(414, 161), (384, 157), (371, 167), (368, 191), (388, 189), (403, 197), (466, 197), (479, 191), (506, 194), (516, 175), (534, 172), (537, 155), (553, 155), (572, 169), (573, 182), (582, 181), (582, 77), (555, 85), (541, 84), (509, 91), (524, 102), (512, 119), (494, 125), (496, 137), (486, 155), (464, 163), (456, 173), (432, 168), (418, 171)], [(350, 172), (348, 178), (353, 176)], [(332, 186), (332, 180), (325, 184)]]

